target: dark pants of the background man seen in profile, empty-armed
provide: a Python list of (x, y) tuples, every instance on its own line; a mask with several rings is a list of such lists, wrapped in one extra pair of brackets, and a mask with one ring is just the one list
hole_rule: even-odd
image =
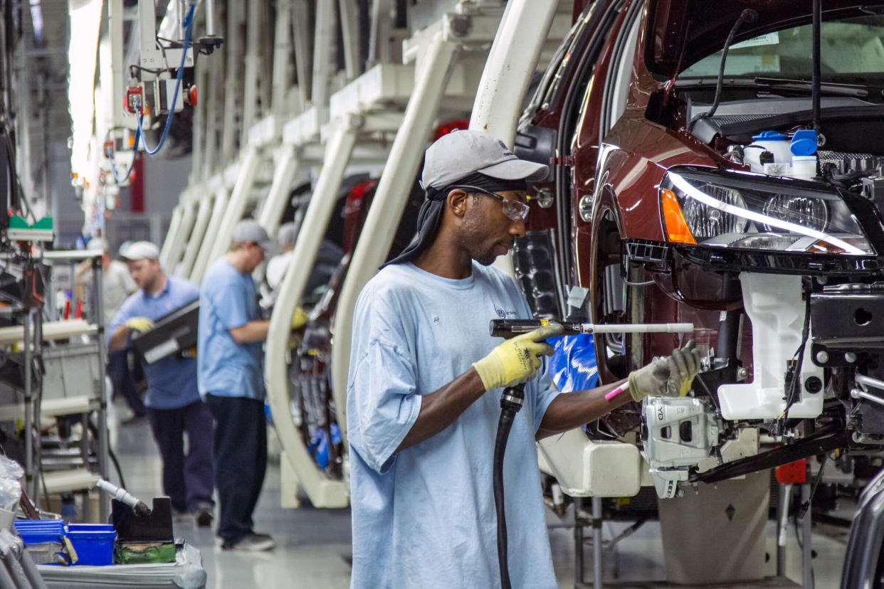
[(264, 404), (242, 396), (207, 395), (215, 416), (215, 486), (221, 517), (217, 535), (235, 543), (254, 532), (252, 512), (267, 470)]

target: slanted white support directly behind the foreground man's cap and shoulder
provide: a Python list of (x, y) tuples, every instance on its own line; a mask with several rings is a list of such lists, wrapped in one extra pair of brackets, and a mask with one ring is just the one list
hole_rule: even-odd
[[(390, 251), (396, 224), (405, 209), (415, 180), (423, 150), (431, 138), (439, 101), (445, 93), (451, 75), (457, 46), (438, 35), (418, 60), (415, 90), (408, 98), (402, 126), (390, 148), (390, 156), (377, 192), (365, 217), (361, 236), (356, 243), (347, 278), (341, 286), (338, 308), (334, 319), (334, 346), (331, 349), (331, 384), (335, 410), (344, 444), (347, 445), (347, 372), (350, 364), (351, 329), (356, 298), (365, 283), (377, 272)], [(306, 225), (306, 219), (305, 219)], [(296, 257), (293, 259), (297, 259)]]

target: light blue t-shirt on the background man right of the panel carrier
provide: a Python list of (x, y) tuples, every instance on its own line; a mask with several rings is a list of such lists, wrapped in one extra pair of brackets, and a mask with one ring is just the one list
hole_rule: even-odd
[(260, 319), (252, 275), (242, 274), (224, 258), (202, 277), (200, 288), (200, 396), (245, 396), (263, 401), (261, 342), (237, 344), (230, 329)]

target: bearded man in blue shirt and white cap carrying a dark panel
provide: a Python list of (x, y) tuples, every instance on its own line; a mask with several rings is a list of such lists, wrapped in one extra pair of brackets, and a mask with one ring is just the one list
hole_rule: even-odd
[[(199, 298), (187, 280), (167, 276), (160, 268), (159, 250), (148, 241), (136, 241), (120, 252), (139, 287), (110, 321), (108, 347), (125, 350), (133, 332), (153, 328), (163, 315)], [(176, 356), (144, 364), (150, 427), (163, 457), (163, 490), (172, 509), (194, 514), (196, 524), (209, 526), (212, 501), (212, 415), (196, 385), (196, 359)], [(187, 432), (187, 454), (184, 434)]]

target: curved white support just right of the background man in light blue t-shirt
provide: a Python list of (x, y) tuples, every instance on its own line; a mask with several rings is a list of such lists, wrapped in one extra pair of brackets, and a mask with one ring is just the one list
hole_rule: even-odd
[(339, 119), (338, 123), (325, 145), (323, 169), (304, 215), (304, 222), (301, 223), (301, 232), (294, 244), (292, 265), (279, 285), (279, 296), (271, 315), (264, 357), (264, 377), (267, 381), (267, 399), (273, 414), (273, 424), (283, 448), (286, 449), (286, 459), (290, 461), (301, 487), (316, 507), (345, 507), (348, 489), (344, 481), (330, 480), (324, 475), (310, 457), (301, 433), (294, 427), (289, 409), (286, 348), (291, 333), (292, 313), (301, 300), (304, 286), (313, 269), (319, 244), (334, 210), (335, 196), (353, 153), (357, 129), (347, 120)]

